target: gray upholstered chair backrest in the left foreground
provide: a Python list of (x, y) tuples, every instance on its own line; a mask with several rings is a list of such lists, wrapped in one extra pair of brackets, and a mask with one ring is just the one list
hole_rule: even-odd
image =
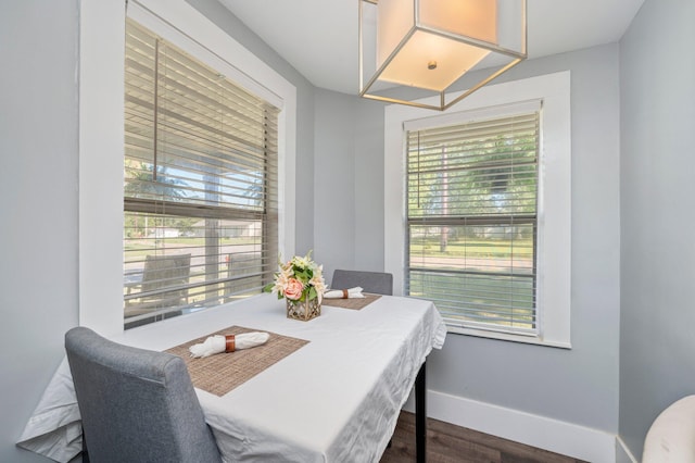
[(85, 327), (65, 334), (65, 350), (91, 461), (220, 461), (184, 360)]

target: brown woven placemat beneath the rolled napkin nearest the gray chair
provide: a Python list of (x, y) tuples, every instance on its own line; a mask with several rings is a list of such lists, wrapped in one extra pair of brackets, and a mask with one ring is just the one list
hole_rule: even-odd
[(203, 342), (208, 336), (239, 335), (250, 331), (260, 331), (260, 329), (230, 326), (176, 346), (166, 350), (166, 352), (184, 359), (194, 387), (219, 397), (248, 381), (268, 366), (279, 362), (309, 342), (304, 339), (290, 338), (266, 331), (270, 337), (263, 346), (229, 353), (217, 353), (203, 359), (193, 359), (190, 356), (188, 348), (195, 343)]

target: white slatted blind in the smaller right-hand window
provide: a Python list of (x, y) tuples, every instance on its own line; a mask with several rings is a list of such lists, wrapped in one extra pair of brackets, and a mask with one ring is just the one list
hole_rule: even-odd
[(450, 326), (538, 335), (539, 120), (406, 130), (405, 291)]

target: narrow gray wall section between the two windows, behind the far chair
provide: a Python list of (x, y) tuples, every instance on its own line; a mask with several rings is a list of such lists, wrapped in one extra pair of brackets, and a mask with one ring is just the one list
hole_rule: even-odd
[(330, 284), (336, 268), (383, 270), (383, 104), (321, 89), (315, 102), (314, 256)]

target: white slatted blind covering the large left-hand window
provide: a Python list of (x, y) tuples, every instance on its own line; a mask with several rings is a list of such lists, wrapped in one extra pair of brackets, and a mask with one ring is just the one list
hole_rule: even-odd
[(278, 109), (128, 20), (126, 327), (261, 292), (278, 255)]

